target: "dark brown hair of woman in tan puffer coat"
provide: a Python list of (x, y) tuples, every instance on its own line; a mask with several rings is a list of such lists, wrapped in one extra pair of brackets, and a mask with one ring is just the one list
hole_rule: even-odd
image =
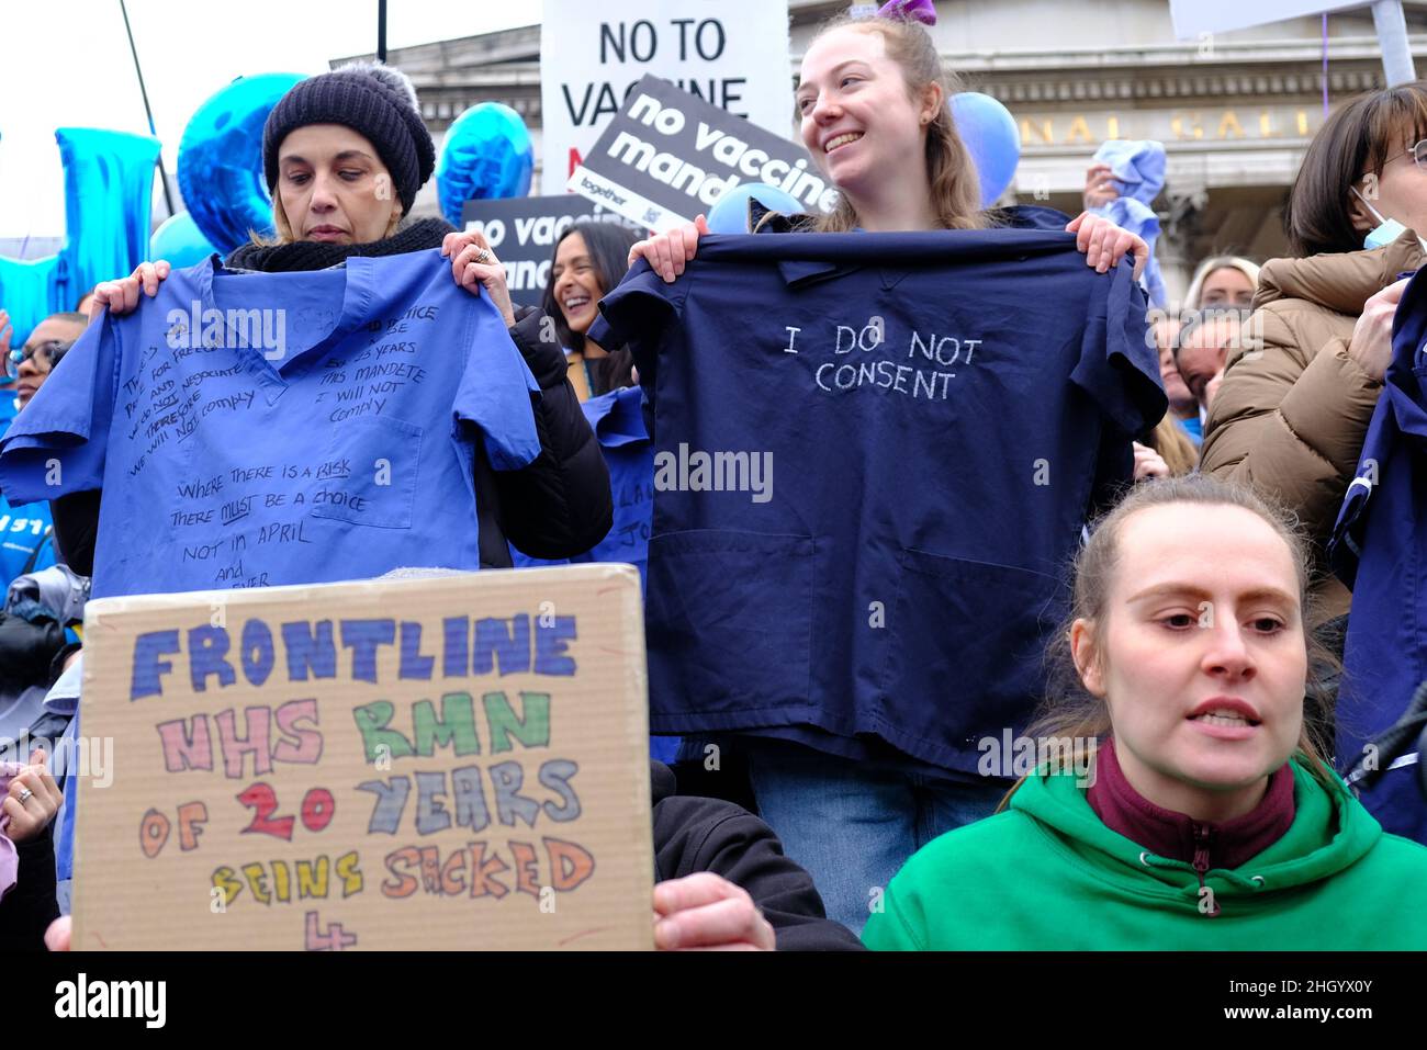
[(1416, 80), (1364, 94), (1333, 113), (1313, 136), (1283, 210), (1289, 251), (1304, 258), (1324, 251), (1357, 251), (1363, 231), (1353, 227), (1357, 198), (1371, 200), (1364, 175), (1381, 175), (1401, 148), (1427, 138), (1427, 81)]

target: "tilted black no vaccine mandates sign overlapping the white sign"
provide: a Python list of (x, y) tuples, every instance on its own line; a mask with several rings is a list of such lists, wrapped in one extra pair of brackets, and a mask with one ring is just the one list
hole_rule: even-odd
[(838, 203), (802, 147), (645, 77), (575, 168), (569, 190), (664, 233), (739, 183), (781, 187), (813, 214)]

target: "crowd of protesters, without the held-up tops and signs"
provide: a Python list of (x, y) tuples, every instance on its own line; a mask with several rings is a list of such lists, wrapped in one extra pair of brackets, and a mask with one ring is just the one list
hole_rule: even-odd
[[(1063, 230), (1092, 271), (1110, 280), (1119, 267), (1137, 280), (1146, 244), (1090, 211), (1055, 213), (1052, 224), (1045, 208), (979, 205), (946, 106), (955, 83), (918, 6), (889, 7), (833, 20), (803, 57), (802, 143), (841, 191), (838, 211), (755, 207), (758, 237)], [(522, 425), (535, 444), (518, 462), (475, 445), (478, 565), (452, 568), (596, 548), (616, 509), (598, 439), (609, 409), (588, 407), (636, 389), (645, 371), (618, 325), (596, 324), (599, 304), (629, 267), (631, 277), (686, 280), (708, 234), (702, 218), (638, 243), (618, 225), (575, 224), (555, 245), (541, 307), (515, 308), (479, 233), (407, 220), (435, 154), (395, 70), (358, 64), (300, 83), (273, 110), (263, 151), (277, 234), (231, 253), (227, 268), (321, 271), (440, 250), (452, 282), (499, 312), (529, 372)], [(1351, 595), (1326, 555), (1393, 355), (1396, 305), (1424, 254), (1424, 165), (1427, 84), (1357, 98), (1303, 161), (1286, 210), (1290, 258), (1260, 270), (1214, 255), (1174, 311), (1152, 314), (1139, 300), (1144, 367), (1163, 398), (1139, 432), (1117, 439), (1124, 484), (1086, 508), (1096, 515), (1066, 566), (1067, 616), (1047, 635), (1049, 685), (1006, 712), (1032, 740), (1087, 742), (1085, 762), (977, 779), (909, 755), (890, 732), (862, 732), (849, 749), (809, 729), (816, 713), (691, 730), (682, 760), (651, 762), (658, 947), (1427, 947), (1427, 847), (1384, 833), (1334, 772), (1356, 758), (1333, 752)], [(1092, 167), (1086, 205), (1113, 194), (1109, 168)], [(1388, 221), (1400, 233), (1366, 248)], [(84, 325), (80, 350), (98, 352), (103, 325), (143, 311), (170, 280), (166, 262), (146, 262), (96, 288), (86, 314), (47, 318), (9, 351), (20, 414), (0, 455), (44, 447), (51, 424), (24, 409), (43, 384), (80, 382), (77, 367), (56, 368), (80, 352), (70, 354)], [(935, 454), (915, 454), (930, 457), (935, 485)], [(53, 504), (0, 504), (9, 738), (60, 739), (81, 716), (73, 628), (84, 579), (116, 542), (106, 536), (113, 498), (94, 484)], [(21, 521), (37, 525), (11, 526)], [(394, 549), (378, 568), (407, 555)], [(652, 569), (654, 548), (649, 558)], [(976, 615), (977, 595), (960, 598)], [(843, 596), (848, 616), (866, 615), (858, 601)], [(1010, 673), (1013, 661), (1040, 653), (993, 658)], [(910, 702), (932, 719), (946, 703)], [(701, 769), (709, 740), (726, 749), (722, 776)], [(67, 920), (56, 916), (68, 912), (73, 778), (49, 763), (39, 750), (0, 766), (7, 947), (67, 946)]]

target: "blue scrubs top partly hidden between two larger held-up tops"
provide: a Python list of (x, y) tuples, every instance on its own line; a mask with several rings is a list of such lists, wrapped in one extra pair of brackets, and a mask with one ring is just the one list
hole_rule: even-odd
[[(581, 405), (609, 467), (609, 489), (615, 504), (615, 522), (609, 535), (589, 552), (559, 561), (531, 558), (511, 544), (511, 561), (517, 568), (628, 562), (639, 569), (639, 582), (645, 581), (649, 518), (654, 512), (654, 445), (644, 428), (639, 407), (642, 399), (644, 394), (638, 387), (625, 387), (589, 398)], [(678, 750), (679, 739), (675, 736), (649, 738), (649, 756), (659, 762), (674, 762)]]

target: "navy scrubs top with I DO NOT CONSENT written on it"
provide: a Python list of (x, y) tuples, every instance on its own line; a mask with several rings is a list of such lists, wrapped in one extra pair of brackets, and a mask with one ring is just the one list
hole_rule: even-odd
[(1130, 267), (1065, 233), (712, 235), (601, 311), (655, 417), (651, 728), (973, 773), (1166, 409)]

